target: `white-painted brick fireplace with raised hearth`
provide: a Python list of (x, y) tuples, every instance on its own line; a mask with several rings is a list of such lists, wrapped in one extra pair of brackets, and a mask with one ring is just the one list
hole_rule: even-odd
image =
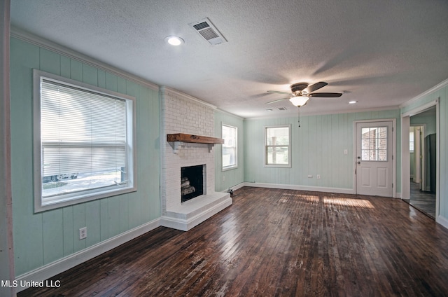
[[(215, 191), (213, 144), (167, 141), (167, 134), (214, 137), (215, 107), (165, 87), (160, 88), (160, 97), (163, 137), (161, 225), (190, 230), (232, 205), (232, 198), (228, 193)], [(181, 168), (195, 166), (203, 168), (203, 193), (182, 202)]]

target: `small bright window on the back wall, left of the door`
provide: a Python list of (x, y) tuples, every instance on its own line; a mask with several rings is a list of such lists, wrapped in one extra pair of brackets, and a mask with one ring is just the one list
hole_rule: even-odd
[(291, 167), (290, 125), (265, 127), (265, 166)]

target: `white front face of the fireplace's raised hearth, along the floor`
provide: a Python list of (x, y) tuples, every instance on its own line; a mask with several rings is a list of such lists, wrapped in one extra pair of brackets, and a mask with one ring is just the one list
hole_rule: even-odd
[(203, 221), (209, 219), (211, 216), (214, 216), (215, 214), (218, 214), (218, 212), (221, 212), (221, 210), (225, 209), (226, 207), (229, 207), (232, 205), (232, 198), (230, 198), (230, 195), (225, 200), (219, 202), (218, 204), (214, 205), (213, 207), (204, 210), (204, 212), (200, 212), (199, 214), (191, 217), (190, 219), (181, 219), (181, 218), (175, 218), (172, 216), (162, 216), (160, 218), (160, 226), (173, 228), (177, 230), (182, 231), (188, 231), (191, 228), (199, 225)]

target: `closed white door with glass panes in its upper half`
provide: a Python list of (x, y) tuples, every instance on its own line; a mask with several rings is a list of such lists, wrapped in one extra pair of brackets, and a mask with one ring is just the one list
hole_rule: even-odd
[(392, 121), (356, 123), (356, 193), (393, 197)]

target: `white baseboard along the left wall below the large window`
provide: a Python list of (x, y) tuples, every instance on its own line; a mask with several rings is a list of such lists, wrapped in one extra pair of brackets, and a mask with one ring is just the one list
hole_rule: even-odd
[[(87, 249), (83, 249), (82, 251), (78, 251), (75, 254), (71, 254), (70, 256), (66, 256), (57, 261), (49, 263), (47, 265), (42, 266), (41, 268), (37, 268), (30, 272), (27, 272), (23, 275), (19, 275), (16, 277), (19, 284), (25, 284), (26, 282), (42, 282), (45, 279), (49, 279), (50, 277), (54, 277), (61, 272), (69, 270), (70, 268), (79, 265), (80, 263), (84, 263), (91, 258), (99, 256), (106, 251), (110, 251), (118, 247), (125, 242), (133, 240), (140, 235), (144, 235), (145, 233), (154, 230), (160, 226), (160, 219), (155, 219), (144, 225), (138, 226), (131, 230), (126, 231), (125, 233), (121, 233), (114, 237), (109, 238), (109, 240), (104, 240), (103, 242), (99, 242), (97, 244), (92, 245), (92, 247), (87, 247)], [(18, 292), (27, 289), (27, 286), (18, 286), (16, 290)]]

